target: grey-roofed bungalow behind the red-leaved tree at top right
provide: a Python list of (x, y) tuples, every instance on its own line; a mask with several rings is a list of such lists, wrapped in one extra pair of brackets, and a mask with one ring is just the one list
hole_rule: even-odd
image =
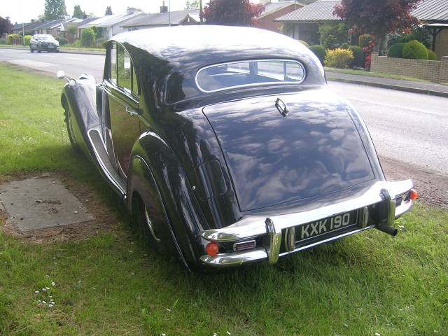
[[(284, 26), (283, 34), (309, 44), (320, 43), (318, 27), (341, 19), (333, 14), (339, 0), (318, 0), (277, 18)], [(448, 1), (425, 0), (417, 4), (412, 15), (419, 19), (433, 36), (432, 48), (440, 58), (448, 55)]]

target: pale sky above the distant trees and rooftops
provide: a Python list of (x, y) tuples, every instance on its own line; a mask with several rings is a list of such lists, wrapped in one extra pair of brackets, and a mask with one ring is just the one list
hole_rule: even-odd
[[(186, 0), (165, 0), (165, 5), (171, 1), (172, 10), (182, 10)], [(202, 0), (202, 3), (208, 2)], [(104, 16), (107, 6), (111, 6), (114, 14), (125, 13), (127, 6), (141, 8), (146, 13), (158, 13), (162, 0), (65, 0), (65, 6), (69, 15), (73, 14), (73, 7), (80, 5), (85, 13), (94, 13), (94, 16)], [(0, 5), (0, 16), (10, 18), (10, 22), (29, 22), (43, 14), (45, 0), (2, 0)]]

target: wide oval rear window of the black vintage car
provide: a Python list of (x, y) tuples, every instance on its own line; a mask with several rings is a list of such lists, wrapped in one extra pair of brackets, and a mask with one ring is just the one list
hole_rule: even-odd
[(202, 92), (216, 92), (232, 87), (272, 83), (302, 83), (305, 69), (300, 62), (286, 59), (230, 62), (206, 66), (196, 74)]

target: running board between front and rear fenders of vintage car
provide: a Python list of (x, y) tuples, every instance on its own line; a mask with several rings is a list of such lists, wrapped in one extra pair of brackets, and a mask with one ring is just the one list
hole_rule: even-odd
[(113, 169), (113, 165), (111, 160), (109, 159), (109, 155), (107, 154), (106, 148), (104, 147), (104, 142), (101, 138), (101, 134), (95, 129), (87, 132), (90, 145), (93, 148), (93, 159), (96, 161), (99, 170), (102, 172), (106, 180), (111, 184), (113, 190), (118, 193), (123, 200), (126, 199), (126, 183), (123, 179), (118, 175), (115, 169)]

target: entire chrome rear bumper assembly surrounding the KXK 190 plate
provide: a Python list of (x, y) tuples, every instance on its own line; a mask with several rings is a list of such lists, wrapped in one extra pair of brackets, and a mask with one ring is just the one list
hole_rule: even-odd
[[(200, 260), (210, 267), (234, 267), (261, 260), (276, 263), (282, 255), (370, 228), (395, 236), (398, 231), (393, 228), (395, 218), (412, 207), (412, 199), (415, 198), (411, 195), (415, 193), (412, 188), (411, 180), (377, 181), (360, 195), (342, 202), (328, 202), (317, 209), (273, 216), (245, 216), (225, 228), (202, 231), (202, 238), (209, 244), (221, 246), (220, 251), (225, 250), (225, 253), (202, 255)], [(356, 214), (356, 223), (353, 225), (297, 241), (297, 232), (301, 228), (303, 232), (304, 225), (309, 226), (310, 223), (322, 222), (325, 218), (348, 214), (350, 211)], [(223, 246), (233, 248), (230, 250)]]

